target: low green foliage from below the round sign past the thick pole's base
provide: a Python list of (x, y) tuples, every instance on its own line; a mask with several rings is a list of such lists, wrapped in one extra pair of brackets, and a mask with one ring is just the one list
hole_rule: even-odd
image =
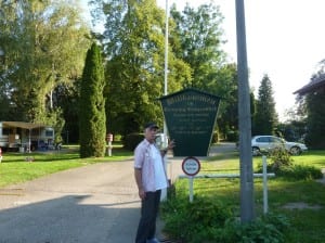
[(161, 206), (165, 231), (187, 243), (282, 243), (289, 223), (284, 216), (269, 214), (248, 223), (240, 221), (230, 206), (210, 199), (171, 196)]

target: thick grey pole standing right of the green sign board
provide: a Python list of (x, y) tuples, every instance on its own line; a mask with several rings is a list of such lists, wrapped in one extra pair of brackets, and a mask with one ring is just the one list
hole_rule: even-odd
[(240, 152), (240, 220), (242, 222), (247, 222), (255, 218), (255, 205), (244, 0), (236, 0), (236, 30)]

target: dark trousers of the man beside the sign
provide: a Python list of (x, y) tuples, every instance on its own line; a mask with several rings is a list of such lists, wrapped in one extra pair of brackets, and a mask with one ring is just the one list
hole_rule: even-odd
[(145, 243), (155, 238), (156, 218), (158, 215), (161, 190), (146, 192), (141, 203), (141, 218), (138, 227), (135, 243)]

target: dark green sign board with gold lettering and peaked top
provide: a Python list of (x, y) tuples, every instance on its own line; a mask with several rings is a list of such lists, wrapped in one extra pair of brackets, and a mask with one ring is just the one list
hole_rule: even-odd
[(174, 156), (207, 156), (220, 97), (184, 89), (160, 98)]

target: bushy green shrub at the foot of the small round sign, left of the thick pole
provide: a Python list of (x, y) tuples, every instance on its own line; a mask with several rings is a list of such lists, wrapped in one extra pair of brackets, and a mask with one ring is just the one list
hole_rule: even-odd
[(203, 239), (212, 240), (213, 229), (222, 228), (232, 216), (229, 206), (197, 195), (193, 203), (185, 196), (168, 200), (161, 205), (161, 210), (165, 213), (165, 231), (172, 238), (188, 243), (202, 243)]

